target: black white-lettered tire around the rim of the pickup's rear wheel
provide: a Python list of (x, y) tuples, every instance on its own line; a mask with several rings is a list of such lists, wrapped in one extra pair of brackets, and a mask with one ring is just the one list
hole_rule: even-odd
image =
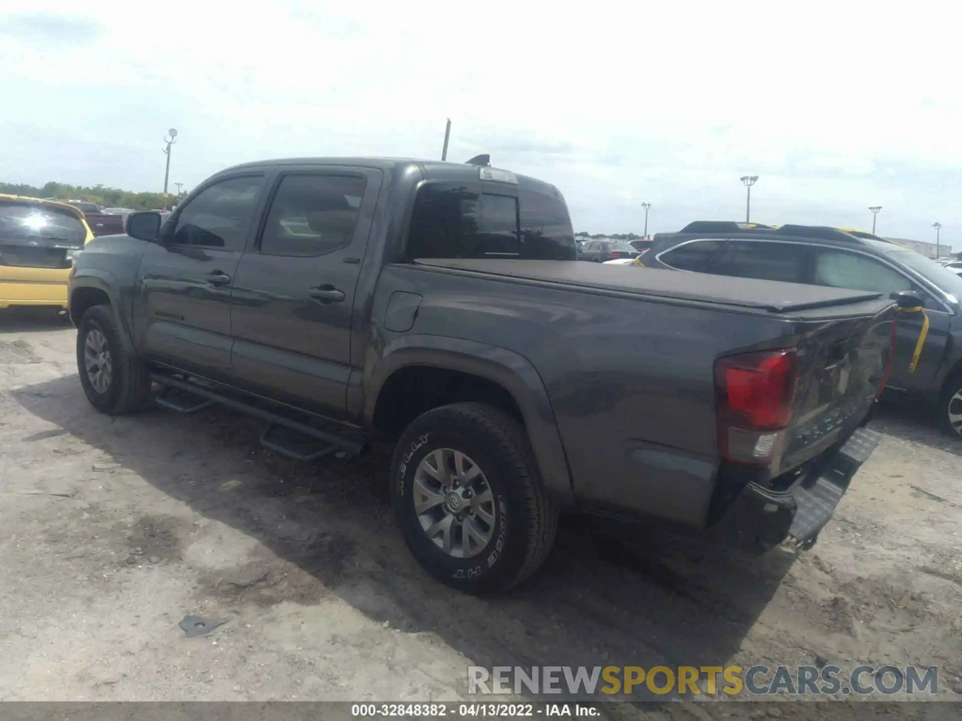
[[(495, 498), (494, 535), (478, 555), (453, 558), (427, 535), (415, 511), (418, 464), (448, 448), (473, 460)], [(544, 563), (558, 526), (558, 513), (544, 492), (523, 426), (510, 415), (480, 403), (428, 410), (401, 435), (391, 464), (394, 516), (418, 562), (443, 584), (468, 593), (510, 588)]]

